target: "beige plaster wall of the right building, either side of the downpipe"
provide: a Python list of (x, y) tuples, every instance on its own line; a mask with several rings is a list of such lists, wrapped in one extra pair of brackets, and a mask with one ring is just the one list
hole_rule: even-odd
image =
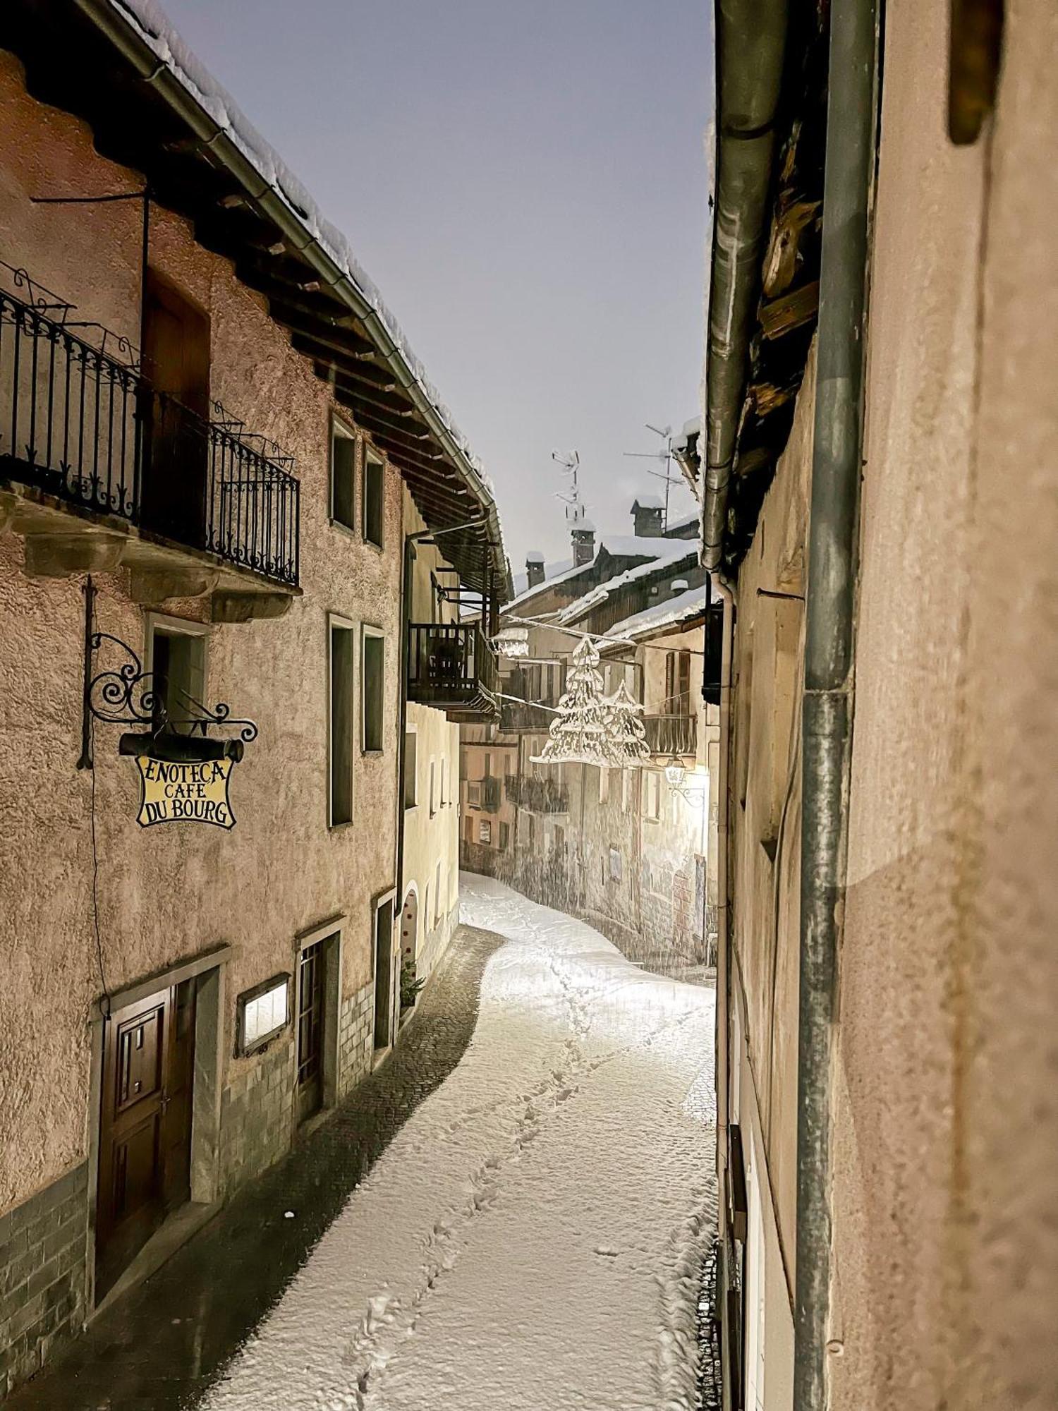
[[(1058, 1404), (1058, 11), (1006, 7), (995, 117), (956, 148), (948, 10), (886, 6), (834, 1411)], [(736, 583), (728, 1095), (758, 1268), (746, 1394), (767, 1411), (791, 1405), (803, 611), (758, 590), (804, 591), (813, 391), (810, 363)]]

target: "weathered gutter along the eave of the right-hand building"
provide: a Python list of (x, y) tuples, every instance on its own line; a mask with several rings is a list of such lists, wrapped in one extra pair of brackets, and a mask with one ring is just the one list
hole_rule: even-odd
[(717, 185), (705, 347), (703, 563), (724, 549), (728, 485), (769, 230), (789, 0), (717, 0)]

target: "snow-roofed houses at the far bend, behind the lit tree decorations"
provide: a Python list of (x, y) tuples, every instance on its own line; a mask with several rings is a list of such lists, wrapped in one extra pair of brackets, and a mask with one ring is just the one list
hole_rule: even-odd
[[(642, 526), (642, 501), (632, 512)], [(604, 535), (591, 564), (540, 576), (504, 610), (501, 629), (523, 624), (528, 656), (501, 656), (499, 721), (463, 728), (463, 865), (684, 972), (711, 959), (715, 934), (705, 619), (695, 542)], [(642, 769), (536, 762), (583, 634), (597, 639), (605, 693), (625, 682), (643, 707)]]

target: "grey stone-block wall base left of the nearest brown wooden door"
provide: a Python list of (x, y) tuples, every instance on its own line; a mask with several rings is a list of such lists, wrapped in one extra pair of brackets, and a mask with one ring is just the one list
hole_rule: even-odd
[(0, 1398), (85, 1316), (87, 1163), (0, 1218)]

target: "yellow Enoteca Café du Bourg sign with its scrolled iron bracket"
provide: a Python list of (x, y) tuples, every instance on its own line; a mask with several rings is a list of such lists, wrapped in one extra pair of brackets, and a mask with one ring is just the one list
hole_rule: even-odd
[[(234, 720), (223, 701), (210, 708), (166, 677), (144, 672), (127, 642), (96, 631), (95, 597), (96, 588), (89, 579), (85, 584), (85, 691), (78, 769), (95, 768), (95, 721), (147, 727), (123, 734), (117, 746), (120, 755), (135, 759), (140, 772), (140, 825), (206, 823), (234, 828), (229, 797), (231, 770), (243, 759), (245, 745), (257, 739), (257, 725), (251, 720)], [(113, 665), (97, 663), (96, 655), (103, 650), (116, 658)]]

